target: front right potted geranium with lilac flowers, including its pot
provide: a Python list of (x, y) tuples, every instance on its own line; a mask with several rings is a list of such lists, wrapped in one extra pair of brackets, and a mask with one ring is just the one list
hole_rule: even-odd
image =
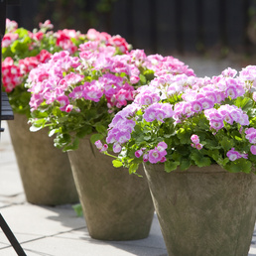
[(106, 142), (119, 153), (114, 166), (136, 173), (144, 165), (169, 255), (248, 254), (256, 216), (255, 73), (249, 65), (212, 78), (163, 74), (109, 124)]

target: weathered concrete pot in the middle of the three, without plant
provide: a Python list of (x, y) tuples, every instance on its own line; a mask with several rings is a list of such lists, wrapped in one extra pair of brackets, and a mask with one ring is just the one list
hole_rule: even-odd
[(147, 180), (114, 168), (113, 159), (99, 153), (89, 137), (77, 150), (69, 151), (68, 157), (90, 236), (99, 240), (146, 238), (154, 214)]

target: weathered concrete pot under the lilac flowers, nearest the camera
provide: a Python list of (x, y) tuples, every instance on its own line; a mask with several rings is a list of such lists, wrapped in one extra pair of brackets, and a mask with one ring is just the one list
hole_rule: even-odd
[(166, 173), (144, 165), (171, 256), (247, 256), (256, 217), (256, 175), (217, 165)]

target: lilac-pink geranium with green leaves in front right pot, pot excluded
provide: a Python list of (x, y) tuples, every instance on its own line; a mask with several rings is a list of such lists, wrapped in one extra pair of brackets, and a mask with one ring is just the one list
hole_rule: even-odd
[[(141, 163), (163, 163), (166, 172), (217, 164), (231, 173), (255, 172), (255, 86), (251, 65), (212, 78), (156, 77), (109, 124), (106, 143), (119, 153), (114, 166), (136, 173)], [(95, 144), (109, 154), (106, 144)]]

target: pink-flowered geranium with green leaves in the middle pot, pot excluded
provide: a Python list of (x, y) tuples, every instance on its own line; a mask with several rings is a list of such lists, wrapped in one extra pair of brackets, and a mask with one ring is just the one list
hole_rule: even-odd
[(64, 151), (76, 149), (86, 134), (95, 133), (92, 142), (102, 139), (114, 114), (160, 70), (193, 74), (175, 58), (147, 57), (142, 50), (120, 54), (116, 46), (98, 41), (81, 44), (79, 57), (66, 51), (55, 54), (28, 78), (31, 130), (49, 127), (50, 136), (56, 134), (55, 146)]

